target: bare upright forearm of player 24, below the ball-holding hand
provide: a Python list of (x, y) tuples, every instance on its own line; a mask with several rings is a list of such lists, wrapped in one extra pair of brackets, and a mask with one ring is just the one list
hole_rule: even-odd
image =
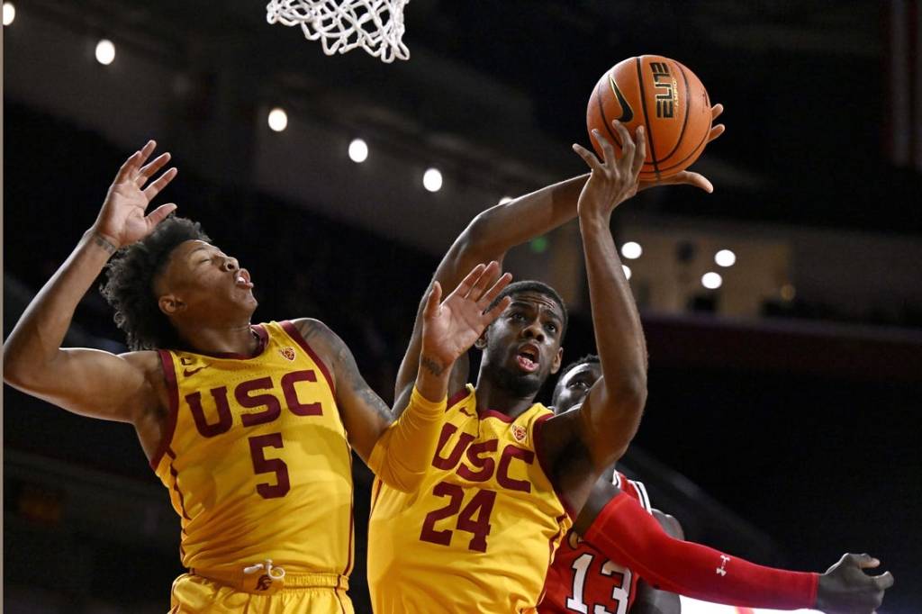
[[(608, 215), (580, 218), (596, 347), (603, 379), (589, 404), (593, 434), (623, 451), (646, 401), (646, 344), (640, 315), (609, 230)], [(606, 465), (616, 460), (605, 459)]]

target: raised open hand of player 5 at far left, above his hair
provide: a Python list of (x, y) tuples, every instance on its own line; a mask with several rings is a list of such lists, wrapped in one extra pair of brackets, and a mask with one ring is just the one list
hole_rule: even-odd
[(170, 154), (163, 153), (144, 165), (156, 147), (157, 143), (148, 141), (144, 148), (124, 161), (122, 168), (115, 175), (115, 180), (109, 186), (100, 215), (93, 224), (92, 230), (116, 249), (146, 237), (176, 208), (174, 204), (169, 203), (157, 207), (147, 216), (144, 215), (150, 201), (177, 173), (175, 168), (171, 168), (144, 187), (145, 183), (170, 161)]

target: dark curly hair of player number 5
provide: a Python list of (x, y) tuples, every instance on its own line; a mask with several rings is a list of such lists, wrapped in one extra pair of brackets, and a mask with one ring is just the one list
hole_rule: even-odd
[(201, 225), (187, 218), (166, 218), (139, 242), (120, 249), (106, 266), (107, 280), (100, 292), (115, 310), (115, 324), (128, 337), (128, 348), (180, 348), (182, 340), (160, 311), (154, 279), (183, 242), (211, 242)]

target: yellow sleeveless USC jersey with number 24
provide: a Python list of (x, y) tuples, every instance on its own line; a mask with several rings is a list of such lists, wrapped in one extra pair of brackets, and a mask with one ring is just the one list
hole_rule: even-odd
[(375, 614), (534, 612), (570, 516), (538, 463), (536, 404), (478, 412), (474, 387), (449, 401), (420, 490), (374, 482), (368, 583)]

